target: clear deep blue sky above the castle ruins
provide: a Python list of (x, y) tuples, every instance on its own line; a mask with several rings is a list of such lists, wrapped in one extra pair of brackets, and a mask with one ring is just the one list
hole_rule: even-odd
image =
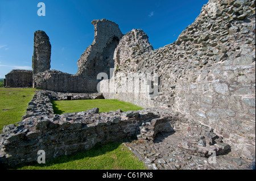
[[(39, 2), (46, 16), (38, 16)], [(93, 42), (94, 19), (108, 19), (123, 34), (147, 33), (158, 49), (173, 43), (208, 0), (0, 0), (0, 78), (12, 69), (30, 69), (34, 32), (43, 30), (52, 45), (51, 69), (75, 74), (77, 60)]]

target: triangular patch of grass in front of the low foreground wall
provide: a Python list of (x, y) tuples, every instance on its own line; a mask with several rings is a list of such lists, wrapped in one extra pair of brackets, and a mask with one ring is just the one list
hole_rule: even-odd
[(97, 144), (80, 153), (65, 155), (46, 161), (45, 164), (27, 165), (19, 170), (146, 170), (131, 151), (120, 142)]

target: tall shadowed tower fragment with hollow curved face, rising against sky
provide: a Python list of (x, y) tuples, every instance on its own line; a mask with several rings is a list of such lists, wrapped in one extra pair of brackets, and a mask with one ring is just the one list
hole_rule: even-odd
[(106, 19), (93, 20), (92, 24), (94, 40), (77, 62), (77, 75), (95, 79), (98, 73), (109, 75), (109, 69), (114, 68), (114, 50), (123, 34), (118, 24)]

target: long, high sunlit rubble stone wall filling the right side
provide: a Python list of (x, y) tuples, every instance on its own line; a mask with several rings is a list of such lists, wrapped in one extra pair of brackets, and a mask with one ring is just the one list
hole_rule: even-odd
[(158, 96), (116, 88), (105, 98), (169, 107), (214, 128), (233, 153), (255, 158), (255, 1), (210, 0), (174, 43), (134, 60), (139, 63), (129, 69), (118, 66), (110, 81), (122, 87), (129, 73), (157, 72)]

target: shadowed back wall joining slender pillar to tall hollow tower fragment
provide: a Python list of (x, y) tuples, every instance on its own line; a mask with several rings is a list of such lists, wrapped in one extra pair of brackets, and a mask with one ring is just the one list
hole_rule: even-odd
[[(43, 31), (35, 32), (33, 70), (36, 88), (61, 92), (97, 92), (97, 84), (100, 82), (97, 80), (97, 74), (110, 75), (109, 69), (114, 68), (114, 50), (123, 35), (118, 25), (109, 20), (93, 20), (92, 24), (94, 41), (82, 53), (77, 62), (79, 69), (75, 75), (49, 70), (51, 54), (48, 51), (51, 51), (51, 44), (47, 43), (48, 39), (43, 38), (48, 37)], [(41, 47), (36, 42), (39, 42)], [(42, 57), (41, 59), (36, 57), (38, 54)]]

